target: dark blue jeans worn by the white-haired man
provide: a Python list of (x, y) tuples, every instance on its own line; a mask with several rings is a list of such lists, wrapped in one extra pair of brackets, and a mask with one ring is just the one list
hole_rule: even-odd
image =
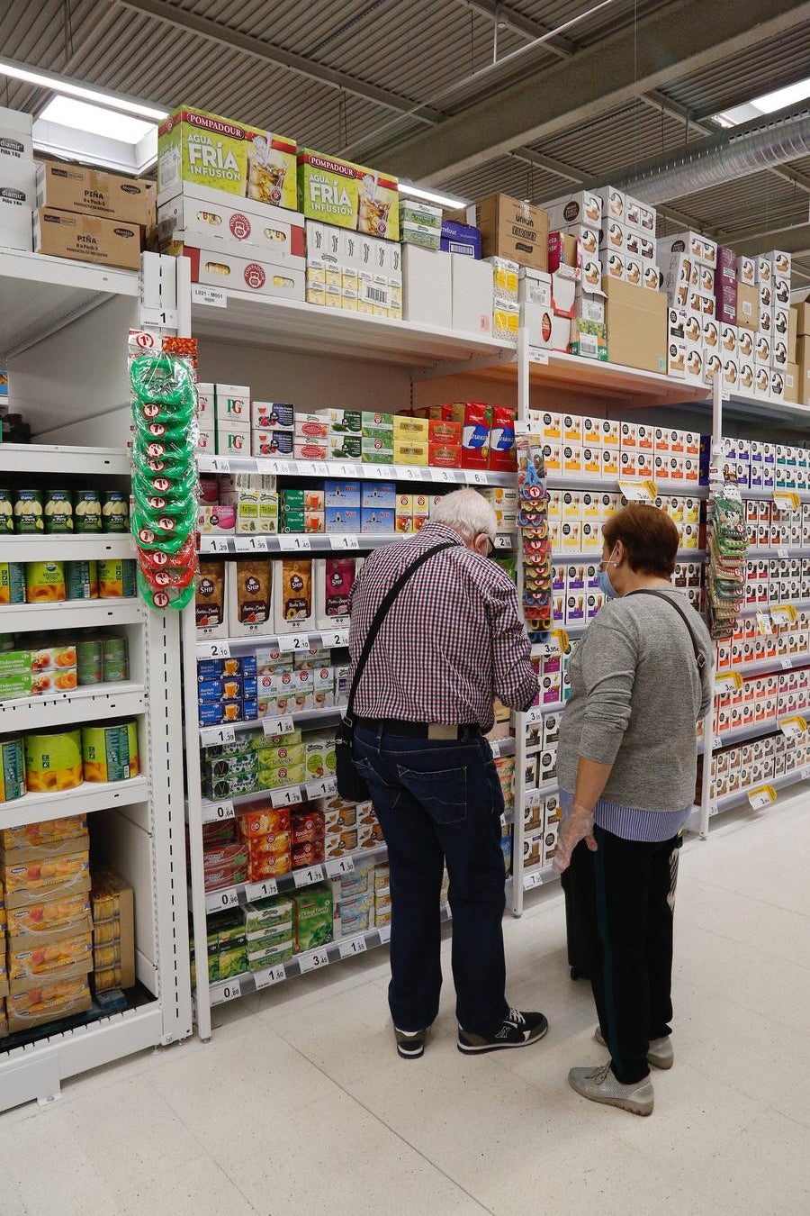
[(504, 799), (489, 744), (480, 734), (417, 739), (357, 727), (355, 762), (389, 848), (395, 1026), (421, 1030), (438, 1013), (438, 899), (447, 863), (457, 1017), (464, 1030), (494, 1034), (509, 1006), (500, 924)]

